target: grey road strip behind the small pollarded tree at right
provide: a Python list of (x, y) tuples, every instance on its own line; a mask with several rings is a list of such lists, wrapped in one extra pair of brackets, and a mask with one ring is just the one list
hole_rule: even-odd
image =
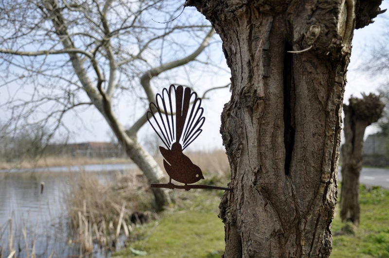
[[(341, 168), (337, 174), (338, 181), (342, 180)], [(381, 186), (389, 189), (389, 170), (376, 168), (362, 168), (359, 183), (371, 186)]]

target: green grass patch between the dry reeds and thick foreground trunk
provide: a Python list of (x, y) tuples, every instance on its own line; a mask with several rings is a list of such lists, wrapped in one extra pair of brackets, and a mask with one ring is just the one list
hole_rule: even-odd
[(114, 256), (131, 257), (139, 250), (149, 258), (220, 257), (225, 247), (224, 224), (217, 217), (221, 193), (180, 191), (176, 206), (161, 214), (157, 226), (138, 228), (128, 248)]

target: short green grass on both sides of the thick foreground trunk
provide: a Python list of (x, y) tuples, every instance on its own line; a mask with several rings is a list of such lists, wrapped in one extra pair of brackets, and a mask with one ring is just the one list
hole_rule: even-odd
[[(224, 224), (217, 217), (221, 193), (201, 189), (180, 191), (176, 206), (160, 214), (158, 225), (154, 221), (138, 227), (132, 233), (132, 241), (129, 241), (127, 249), (114, 256), (221, 257), (225, 246)], [(361, 222), (354, 234), (339, 234), (344, 224), (336, 207), (331, 257), (389, 258), (389, 190), (379, 187), (365, 189), (361, 186), (360, 203)]]

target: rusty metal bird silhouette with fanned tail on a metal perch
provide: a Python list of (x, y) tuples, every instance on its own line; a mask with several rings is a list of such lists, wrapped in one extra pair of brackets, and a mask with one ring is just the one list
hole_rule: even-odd
[[(147, 120), (162, 140), (166, 148), (159, 147), (164, 160), (163, 166), (169, 175), (169, 184), (151, 184), (151, 187), (224, 189), (207, 185), (188, 185), (204, 179), (201, 169), (193, 164), (188, 156), (183, 154), (203, 131), (204, 108), (201, 107), (201, 98), (188, 87), (171, 85), (169, 90), (164, 88), (162, 94), (156, 95), (156, 103), (150, 103)], [(172, 179), (185, 184), (177, 186)]]

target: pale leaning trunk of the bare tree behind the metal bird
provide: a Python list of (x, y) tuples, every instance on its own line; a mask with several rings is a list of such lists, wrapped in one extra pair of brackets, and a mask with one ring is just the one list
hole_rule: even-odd
[[(57, 1), (45, 0), (43, 1), (43, 4), (46, 8), (46, 11), (50, 14), (55, 33), (61, 39), (61, 43), (64, 49), (73, 49), (74, 45), (67, 30), (66, 19), (62, 15), (62, 10), (59, 8)], [(91, 103), (93, 103), (97, 110), (99, 110), (99, 112), (106, 119), (116, 138), (118, 139), (118, 142), (124, 146), (127, 155), (134, 161), (135, 164), (138, 165), (150, 183), (161, 183), (161, 179), (164, 176), (157, 162), (141, 147), (135, 138), (130, 138), (130, 136), (125, 133), (123, 125), (113, 113), (111, 96), (109, 92), (106, 93), (102, 89), (103, 78), (101, 78), (102, 75), (98, 69), (97, 64), (93, 66), (98, 77), (97, 87), (94, 87), (90, 78), (88, 77), (87, 70), (84, 68), (84, 61), (82, 61), (81, 57), (77, 53), (69, 53), (69, 56), (73, 69), (80, 83), (84, 87)], [(114, 68), (112, 67), (110, 68), (111, 76), (109, 84), (112, 84), (112, 82), (115, 81), (116, 75), (113, 69)], [(108, 86), (108, 88), (112, 89), (112, 86)], [(156, 207), (158, 210), (161, 210), (163, 206), (170, 203), (171, 200), (167, 189), (152, 190), (155, 196)]]

